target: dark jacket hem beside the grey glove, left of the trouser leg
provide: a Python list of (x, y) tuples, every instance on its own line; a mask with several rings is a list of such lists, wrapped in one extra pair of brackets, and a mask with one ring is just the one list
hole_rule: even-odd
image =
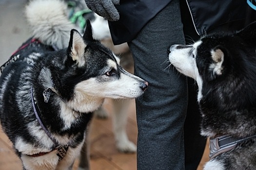
[(117, 9), (120, 19), (109, 21), (114, 44), (129, 42), (135, 38), (141, 28), (171, 0), (120, 0)]

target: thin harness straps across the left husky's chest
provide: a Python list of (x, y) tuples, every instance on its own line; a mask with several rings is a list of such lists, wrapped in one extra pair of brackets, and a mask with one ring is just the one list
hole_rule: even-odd
[(50, 134), (50, 132), (47, 130), (47, 128), (43, 125), (43, 123), (38, 115), (38, 112), (40, 112), (40, 111), (39, 111), (38, 104), (35, 102), (35, 99), (34, 99), (33, 87), (31, 87), (31, 100), (32, 100), (32, 106), (34, 109), (34, 113), (36, 115), (36, 118), (37, 118), (41, 128), (46, 133), (46, 135), (52, 140), (52, 142), (54, 143), (55, 146), (54, 146), (54, 149), (50, 152), (36, 153), (36, 154), (29, 155), (29, 156), (38, 157), (38, 156), (42, 156), (42, 155), (45, 155), (47, 153), (51, 153), (51, 152), (57, 150), (57, 156), (59, 157), (59, 160), (63, 159), (68, 151), (69, 145), (59, 145), (58, 141)]

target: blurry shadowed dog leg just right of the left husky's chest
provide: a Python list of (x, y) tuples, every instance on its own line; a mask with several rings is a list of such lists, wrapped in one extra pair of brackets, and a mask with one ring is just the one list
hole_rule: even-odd
[(91, 122), (87, 125), (85, 140), (80, 152), (80, 161), (78, 170), (90, 170), (90, 129)]

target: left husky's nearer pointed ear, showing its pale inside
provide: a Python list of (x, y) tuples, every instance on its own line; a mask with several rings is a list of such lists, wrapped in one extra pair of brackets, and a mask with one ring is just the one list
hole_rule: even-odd
[(71, 30), (70, 40), (67, 52), (71, 56), (72, 60), (75, 61), (79, 66), (83, 66), (84, 61), (84, 51), (86, 44), (83, 41), (82, 36), (75, 29)]

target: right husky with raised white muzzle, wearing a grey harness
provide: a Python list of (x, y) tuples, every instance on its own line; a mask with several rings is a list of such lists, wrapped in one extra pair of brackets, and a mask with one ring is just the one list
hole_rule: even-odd
[(256, 22), (173, 45), (169, 60), (199, 87), (201, 134), (210, 138), (204, 170), (256, 170)]

